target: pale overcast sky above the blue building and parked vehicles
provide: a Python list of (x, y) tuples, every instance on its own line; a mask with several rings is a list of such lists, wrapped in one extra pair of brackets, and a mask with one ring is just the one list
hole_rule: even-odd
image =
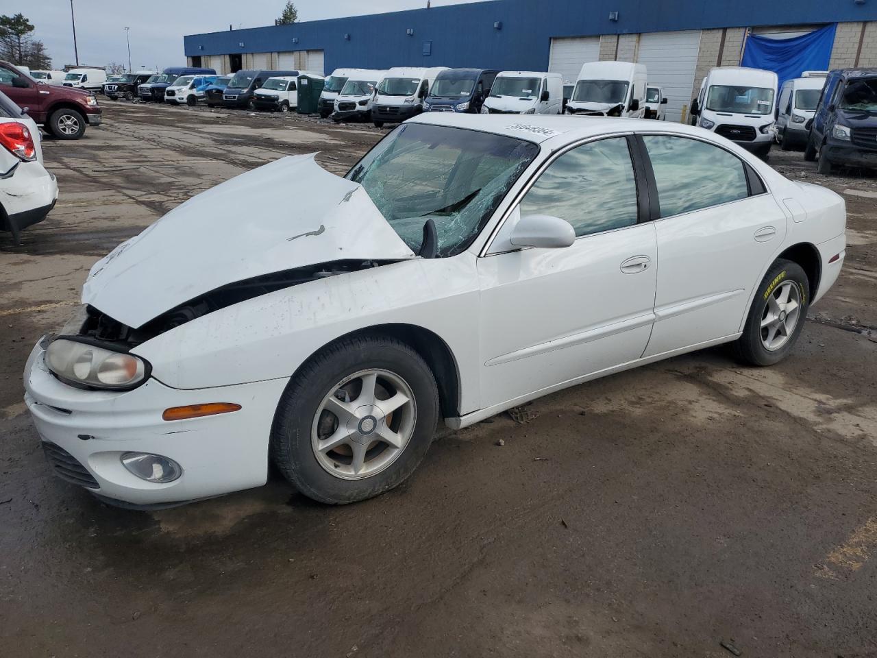
[[(473, 0), (432, 0), (432, 6)], [(74, 0), (76, 42), (82, 64), (127, 66), (125, 27), (131, 27), (134, 68), (185, 64), (182, 35), (227, 30), (228, 25), (273, 25), (286, 0)], [(300, 21), (420, 9), (426, 0), (297, 0)], [(69, 0), (3, 0), (0, 12), (21, 12), (36, 26), (55, 68), (73, 63)]]

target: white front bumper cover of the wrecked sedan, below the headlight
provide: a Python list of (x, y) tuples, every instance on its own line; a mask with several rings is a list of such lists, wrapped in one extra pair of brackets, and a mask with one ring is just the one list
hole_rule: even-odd
[[(44, 340), (25, 366), (25, 404), (40, 439), (78, 462), (55, 465), (56, 475), (132, 505), (180, 503), (266, 482), (271, 423), (286, 380), (177, 390), (150, 379), (129, 391), (80, 390), (46, 368)], [(161, 419), (172, 406), (220, 400), (242, 408), (204, 418)], [(141, 480), (120, 461), (128, 452), (169, 457), (180, 464), (182, 476), (172, 483)], [(69, 464), (81, 475), (71, 477)]]

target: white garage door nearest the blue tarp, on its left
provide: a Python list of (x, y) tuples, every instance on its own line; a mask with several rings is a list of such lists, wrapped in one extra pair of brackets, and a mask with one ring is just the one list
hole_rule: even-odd
[(664, 90), (667, 121), (679, 121), (682, 105), (691, 103), (700, 45), (700, 30), (639, 36), (638, 61), (648, 69), (649, 84)]

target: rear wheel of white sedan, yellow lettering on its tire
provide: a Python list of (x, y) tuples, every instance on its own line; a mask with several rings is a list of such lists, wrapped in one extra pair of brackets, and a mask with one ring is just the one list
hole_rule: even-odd
[(809, 290), (800, 265), (776, 261), (759, 285), (743, 335), (734, 343), (738, 359), (752, 366), (773, 366), (785, 359), (801, 335)]

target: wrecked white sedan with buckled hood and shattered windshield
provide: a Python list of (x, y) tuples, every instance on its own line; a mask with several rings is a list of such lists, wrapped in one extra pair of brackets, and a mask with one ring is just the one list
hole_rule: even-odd
[[(278, 211), (282, 209), (282, 211)], [(712, 132), (429, 113), (340, 178), (275, 161), (92, 268), (26, 403), (57, 473), (125, 504), (410, 476), (460, 428), (719, 343), (791, 352), (845, 205)]]

